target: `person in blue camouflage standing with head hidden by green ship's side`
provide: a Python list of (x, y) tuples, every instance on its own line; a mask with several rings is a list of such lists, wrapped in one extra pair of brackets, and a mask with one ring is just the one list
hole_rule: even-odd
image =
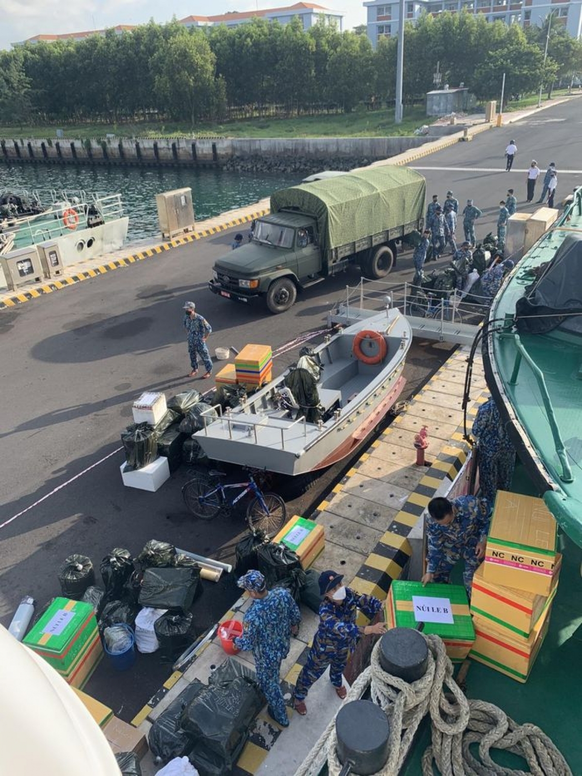
[(515, 448), (493, 399), (481, 404), (473, 421), (479, 442), (479, 486), (491, 504), (497, 490), (509, 490), (515, 468)]

